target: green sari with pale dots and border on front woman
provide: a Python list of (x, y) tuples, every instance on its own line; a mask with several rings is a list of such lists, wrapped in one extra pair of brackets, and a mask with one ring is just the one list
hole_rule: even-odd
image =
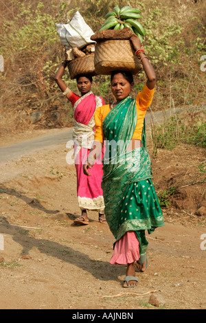
[[(145, 123), (143, 147), (126, 152), (137, 124), (136, 100), (122, 100), (106, 115), (103, 130), (104, 153), (102, 190), (106, 221), (118, 241), (128, 231), (135, 231), (140, 254), (146, 254), (145, 230), (152, 233), (164, 225), (163, 215), (152, 184), (151, 162), (146, 150)], [(116, 144), (115, 144), (116, 143)]]

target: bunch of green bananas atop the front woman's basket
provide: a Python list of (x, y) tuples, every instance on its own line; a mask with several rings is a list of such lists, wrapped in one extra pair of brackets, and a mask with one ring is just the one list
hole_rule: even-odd
[(114, 7), (113, 10), (114, 11), (106, 14), (106, 21), (100, 28), (99, 32), (105, 29), (122, 30), (124, 28), (130, 28), (135, 34), (137, 34), (142, 43), (142, 36), (145, 36), (146, 32), (141, 23), (137, 21), (137, 19), (141, 19), (141, 10), (131, 8), (129, 5), (126, 5), (122, 9)]

